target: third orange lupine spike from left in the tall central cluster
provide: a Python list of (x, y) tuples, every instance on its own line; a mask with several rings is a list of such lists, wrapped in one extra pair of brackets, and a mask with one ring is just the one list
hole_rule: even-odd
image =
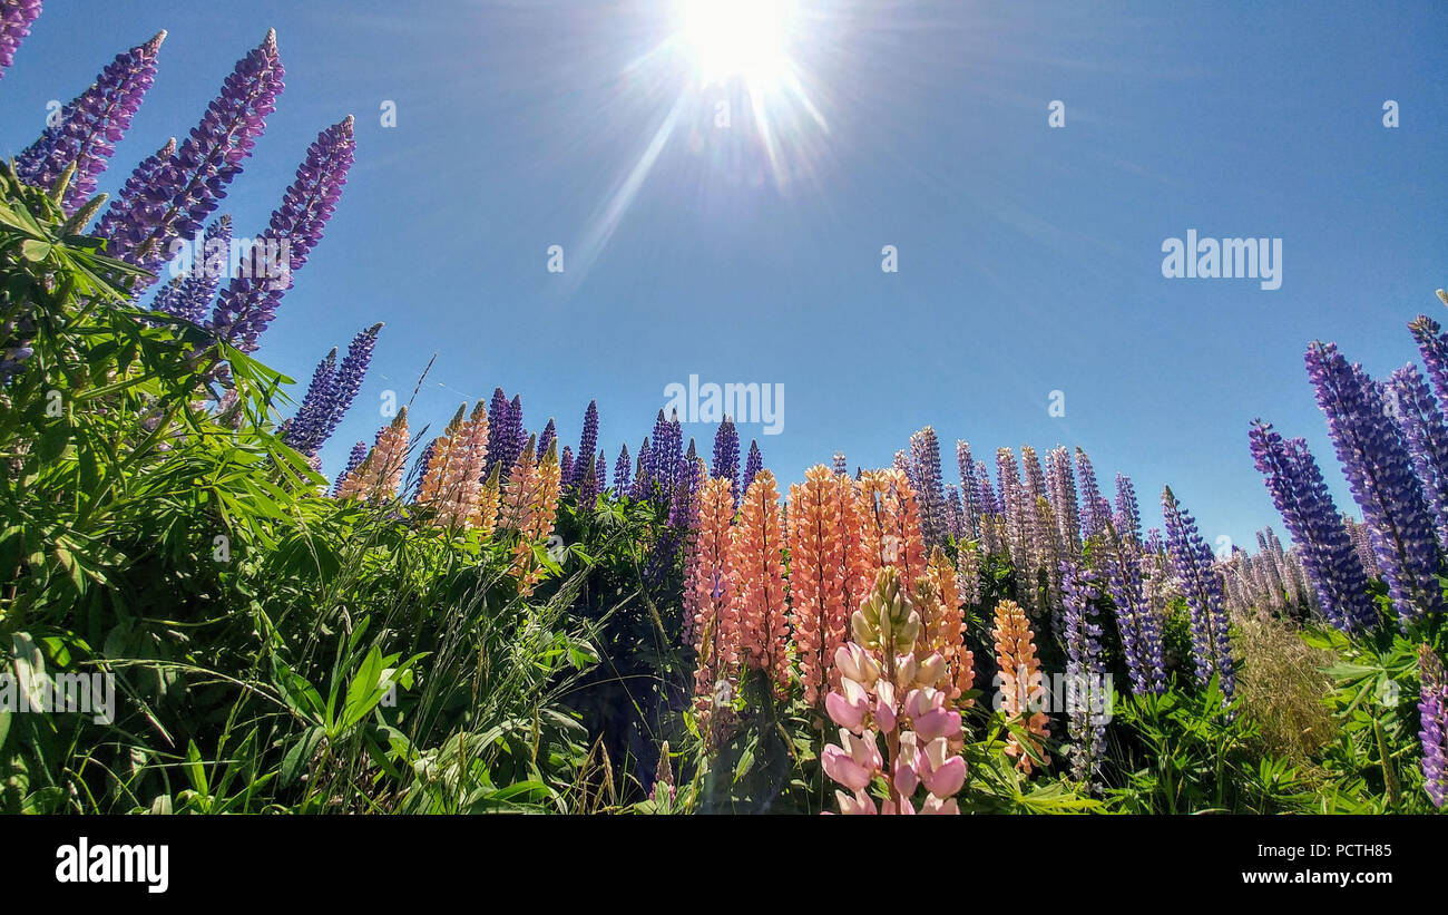
[[(805, 702), (830, 691), (834, 653), (844, 644), (847, 611), (840, 563), (840, 507), (830, 468), (805, 471), (805, 482), (789, 486), (789, 621)], [(853, 608), (851, 608), (853, 612)]]

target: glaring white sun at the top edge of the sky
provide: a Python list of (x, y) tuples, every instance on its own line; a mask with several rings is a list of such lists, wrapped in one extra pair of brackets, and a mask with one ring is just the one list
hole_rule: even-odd
[(756, 90), (789, 74), (789, 0), (678, 0), (679, 39), (707, 85), (743, 78)]

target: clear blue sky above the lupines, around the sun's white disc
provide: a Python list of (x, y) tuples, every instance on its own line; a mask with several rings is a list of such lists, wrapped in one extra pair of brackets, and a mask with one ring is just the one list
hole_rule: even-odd
[[(760, 446), (786, 482), (837, 449), (885, 466), (928, 423), (947, 479), (956, 439), (992, 465), (998, 446), (1079, 444), (1103, 478), (1132, 476), (1148, 524), (1170, 484), (1209, 540), (1245, 543), (1281, 530), (1254, 417), (1306, 436), (1350, 505), (1306, 343), (1381, 375), (1416, 355), (1412, 317), (1448, 319), (1438, 1), (801, 0), (788, 51), (827, 129), (772, 107), (779, 171), (740, 81), (699, 88), (666, 45), (672, 0), (46, 6), (0, 83), (6, 155), (48, 100), (169, 30), (101, 190), (188, 130), (268, 26), (287, 91), (223, 203), (239, 233), (265, 226), (317, 130), (356, 114), (342, 206), (261, 353), (304, 382), (387, 323), (329, 472), (436, 352), (414, 431), (502, 385), (531, 429), (552, 416), (576, 442), (597, 398), (613, 462), (670, 382), (775, 384), (783, 431)], [(1189, 229), (1283, 239), (1281, 288), (1163, 278), (1163, 240)], [(885, 245), (899, 272), (880, 271)], [(705, 450), (712, 433), (686, 429)], [(741, 426), (746, 446), (759, 433)]]

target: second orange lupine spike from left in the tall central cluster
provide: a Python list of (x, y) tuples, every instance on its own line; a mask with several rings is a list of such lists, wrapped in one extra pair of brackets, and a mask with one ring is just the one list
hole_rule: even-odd
[(789, 627), (785, 621), (785, 569), (775, 475), (760, 471), (740, 501), (730, 540), (734, 607), (744, 663), (769, 673), (775, 695), (789, 691)]

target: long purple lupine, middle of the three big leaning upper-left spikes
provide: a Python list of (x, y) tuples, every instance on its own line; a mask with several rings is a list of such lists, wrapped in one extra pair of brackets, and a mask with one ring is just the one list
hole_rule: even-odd
[[(136, 185), (127, 181), (106, 208), (96, 235), (107, 239), (110, 256), (152, 271), (169, 255), (172, 240), (201, 232), (265, 130), (284, 75), (277, 33), (266, 32), (261, 46), (237, 61), (181, 146), (159, 166), (142, 162), (132, 175)], [(148, 285), (140, 278), (133, 291)]]

